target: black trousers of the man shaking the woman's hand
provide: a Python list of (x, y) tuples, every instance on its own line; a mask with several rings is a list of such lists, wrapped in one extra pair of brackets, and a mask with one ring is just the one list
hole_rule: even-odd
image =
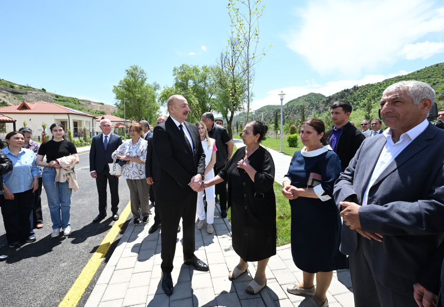
[[(188, 188), (187, 188), (188, 189)], [(162, 220), (161, 269), (173, 270), (173, 259), (176, 253), (177, 228), (182, 217), (183, 259), (194, 255), (194, 228), (196, 219), (197, 192), (190, 192), (188, 197), (180, 199), (156, 199)]]

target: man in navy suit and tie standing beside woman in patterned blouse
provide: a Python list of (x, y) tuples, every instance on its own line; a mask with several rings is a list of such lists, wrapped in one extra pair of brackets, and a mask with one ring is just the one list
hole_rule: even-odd
[(119, 219), (117, 213), (119, 211), (119, 178), (109, 173), (108, 163), (113, 163), (111, 153), (122, 144), (122, 138), (111, 133), (109, 119), (102, 119), (99, 127), (102, 133), (93, 136), (89, 152), (89, 170), (91, 177), (96, 179), (99, 194), (99, 215), (94, 218), (93, 223), (100, 222), (106, 216), (106, 182), (109, 183), (109, 191), (111, 192), (113, 220)]

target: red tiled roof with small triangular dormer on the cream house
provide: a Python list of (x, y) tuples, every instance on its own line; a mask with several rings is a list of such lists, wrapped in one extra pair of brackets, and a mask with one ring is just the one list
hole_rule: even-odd
[(4, 113), (4, 114), (10, 114), (10, 113), (28, 113), (28, 114), (43, 114), (43, 113), (61, 114), (61, 113), (63, 113), (63, 114), (66, 114), (66, 113), (69, 113), (69, 114), (77, 114), (77, 115), (95, 117), (94, 115), (86, 114), (81, 111), (76, 111), (73, 109), (63, 107), (57, 103), (51, 103), (51, 102), (45, 102), (45, 101), (37, 101), (37, 102), (23, 101), (19, 106), (13, 105), (13, 106), (1, 107), (0, 113)]

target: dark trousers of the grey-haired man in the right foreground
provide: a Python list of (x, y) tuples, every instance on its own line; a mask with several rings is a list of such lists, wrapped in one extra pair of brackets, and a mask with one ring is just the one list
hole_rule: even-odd
[(371, 264), (370, 240), (358, 234), (358, 247), (348, 256), (356, 307), (418, 307), (412, 296), (384, 287), (376, 278)]

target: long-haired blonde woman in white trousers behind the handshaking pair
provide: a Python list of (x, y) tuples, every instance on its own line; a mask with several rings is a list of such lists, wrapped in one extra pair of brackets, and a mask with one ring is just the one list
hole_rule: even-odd
[[(202, 121), (196, 123), (199, 134), (201, 135), (202, 147), (205, 152), (205, 179), (210, 180), (214, 178), (213, 166), (216, 163), (216, 143), (215, 140), (208, 137), (208, 131)], [(206, 231), (213, 233), (213, 221), (214, 221), (214, 207), (215, 207), (215, 194), (214, 186), (205, 189), (205, 197), (207, 203), (206, 210)], [(197, 214), (199, 215), (198, 229), (202, 229), (205, 225), (205, 209), (203, 207), (203, 191), (197, 194)]]

